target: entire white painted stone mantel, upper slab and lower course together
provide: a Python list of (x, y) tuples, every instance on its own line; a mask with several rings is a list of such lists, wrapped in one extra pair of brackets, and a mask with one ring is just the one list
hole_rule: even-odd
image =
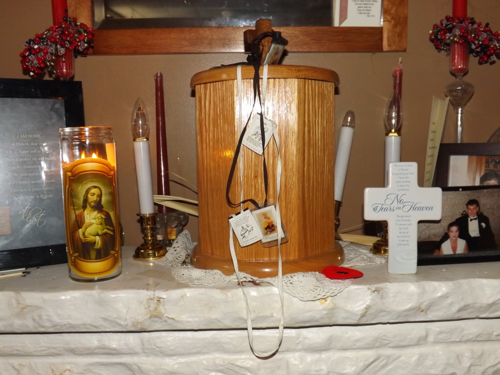
[[(108, 281), (73, 281), (65, 264), (0, 279), (1, 373), (500, 371), (499, 262), (420, 266), (411, 275), (369, 265), (334, 297), (304, 302), (285, 294), (282, 345), (262, 360), (248, 345), (236, 283), (182, 284), (168, 266), (132, 253), (123, 249), (123, 272)], [(277, 290), (245, 288), (253, 326), (275, 328)], [(261, 350), (276, 337), (275, 329), (254, 331)]]

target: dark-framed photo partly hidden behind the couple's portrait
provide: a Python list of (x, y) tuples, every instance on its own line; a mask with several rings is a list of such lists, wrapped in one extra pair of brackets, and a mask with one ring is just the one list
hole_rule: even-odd
[(500, 183), (500, 143), (441, 143), (436, 186), (479, 186)]

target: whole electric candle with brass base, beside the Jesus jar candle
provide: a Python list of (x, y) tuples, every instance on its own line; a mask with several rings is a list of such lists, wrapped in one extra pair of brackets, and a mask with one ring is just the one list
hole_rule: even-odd
[(137, 189), (139, 193), (140, 226), (144, 242), (133, 254), (135, 260), (155, 260), (166, 254), (165, 245), (156, 238), (156, 221), (151, 180), (151, 160), (149, 158), (149, 120), (144, 103), (140, 98), (135, 101), (132, 111), (133, 152)]

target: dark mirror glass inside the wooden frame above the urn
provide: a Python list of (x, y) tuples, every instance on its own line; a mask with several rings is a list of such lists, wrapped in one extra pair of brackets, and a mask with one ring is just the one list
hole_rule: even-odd
[(99, 0), (93, 1), (99, 29), (158, 27), (332, 26), (333, 0)]

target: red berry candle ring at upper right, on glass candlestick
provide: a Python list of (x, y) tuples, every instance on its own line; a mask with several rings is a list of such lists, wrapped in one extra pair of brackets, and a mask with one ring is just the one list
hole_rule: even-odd
[(429, 40), (438, 51), (449, 54), (450, 44), (467, 43), (469, 53), (478, 57), (479, 65), (500, 59), (500, 34), (492, 32), (489, 24), (481, 26), (473, 17), (458, 18), (447, 15), (432, 26)]

